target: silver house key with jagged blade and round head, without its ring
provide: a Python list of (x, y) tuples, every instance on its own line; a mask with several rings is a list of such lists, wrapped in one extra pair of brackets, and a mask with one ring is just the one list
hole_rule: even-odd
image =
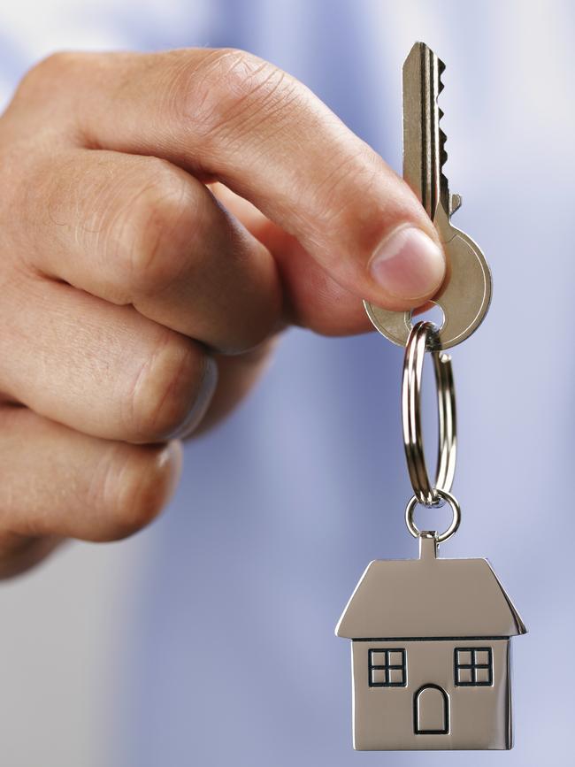
[[(443, 89), (445, 65), (424, 42), (416, 42), (403, 64), (403, 178), (432, 219), (448, 259), (448, 274), (433, 303), (445, 321), (439, 331), (441, 349), (461, 343), (479, 327), (491, 302), (491, 273), (477, 243), (450, 217), (461, 196), (449, 193), (443, 173), (446, 135), (439, 127), (442, 111), (437, 97)], [(405, 346), (411, 311), (388, 311), (364, 301), (373, 325), (389, 341)]]

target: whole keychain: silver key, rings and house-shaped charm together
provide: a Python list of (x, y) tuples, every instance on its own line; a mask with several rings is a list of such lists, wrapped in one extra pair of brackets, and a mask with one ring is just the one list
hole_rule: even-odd
[[(403, 65), (403, 178), (433, 220), (447, 253), (449, 281), (433, 303), (444, 321), (411, 323), (411, 312), (364, 302), (373, 325), (405, 346), (403, 442), (414, 495), (405, 521), (419, 558), (368, 565), (335, 633), (352, 640), (353, 742), (357, 750), (511, 748), (510, 637), (525, 625), (486, 559), (442, 559), (461, 510), (450, 490), (456, 463), (456, 403), (449, 349), (480, 325), (491, 275), (479, 247), (451, 226), (461, 198), (449, 195), (437, 96), (445, 65), (416, 42)], [(420, 394), (426, 350), (439, 406), (434, 485), (423, 450)], [(418, 505), (447, 503), (444, 532), (419, 530)]]

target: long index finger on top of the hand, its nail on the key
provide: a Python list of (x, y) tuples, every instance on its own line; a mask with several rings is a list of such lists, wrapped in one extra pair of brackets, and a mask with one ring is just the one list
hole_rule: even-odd
[[(445, 273), (437, 234), (410, 189), (301, 83), (238, 50), (52, 57), (32, 101), (70, 139), (164, 157), (215, 178), (293, 234), (343, 288), (389, 309), (422, 303)], [(43, 114), (43, 111), (42, 111)]]

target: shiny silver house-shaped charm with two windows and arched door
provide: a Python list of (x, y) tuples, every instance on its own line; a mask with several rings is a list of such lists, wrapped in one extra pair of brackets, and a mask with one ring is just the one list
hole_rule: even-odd
[(368, 565), (335, 633), (352, 640), (361, 751), (511, 748), (510, 637), (525, 625), (486, 559)]

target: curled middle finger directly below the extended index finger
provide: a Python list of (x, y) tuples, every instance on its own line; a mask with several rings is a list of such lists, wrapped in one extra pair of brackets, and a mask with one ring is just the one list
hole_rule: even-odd
[[(69, 150), (12, 200), (15, 255), (35, 270), (226, 352), (280, 318), (269, 251), (203, 183), (155, 157)], [(10, 224), (9, 224), (10, 226)], [(8, 236), (8, 232), (4, 232)]]

